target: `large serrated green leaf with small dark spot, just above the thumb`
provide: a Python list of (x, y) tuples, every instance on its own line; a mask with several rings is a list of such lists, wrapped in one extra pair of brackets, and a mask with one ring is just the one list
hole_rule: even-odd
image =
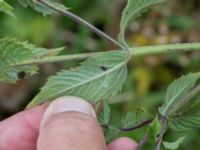
[(90, 57), (80, 67), (50, 77), (28, 107), (65, 95), (79, 96), (90, 102), (109, 99), (120, 91), (126, 80), (127, 61), (125, 51)]

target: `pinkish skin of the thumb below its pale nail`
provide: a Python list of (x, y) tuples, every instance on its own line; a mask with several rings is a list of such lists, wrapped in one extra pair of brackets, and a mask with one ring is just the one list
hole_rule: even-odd
[(37, 150), (106, 150), (97, 120), (80, 112), (51, 116), (40, 130)]

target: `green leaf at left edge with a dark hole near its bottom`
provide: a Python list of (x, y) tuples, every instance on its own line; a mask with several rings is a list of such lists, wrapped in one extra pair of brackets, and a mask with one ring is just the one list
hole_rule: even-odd
[(34, 64), (17, 64), (33, 58), (40, 59), (56, 55), (61, 50), (53, 49), (51, 51), (15, 39), (0, 39), (0, 81), (16, 83), (16, 81), (23, 79), (26, 74), (37, 73), (38, 67)]

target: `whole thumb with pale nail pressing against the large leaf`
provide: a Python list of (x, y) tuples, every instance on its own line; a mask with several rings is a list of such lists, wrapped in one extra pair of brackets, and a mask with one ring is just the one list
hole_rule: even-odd
[(61, 97), (47, 108), (37, 150), (106, 150), (92, 106), (81, 98)]

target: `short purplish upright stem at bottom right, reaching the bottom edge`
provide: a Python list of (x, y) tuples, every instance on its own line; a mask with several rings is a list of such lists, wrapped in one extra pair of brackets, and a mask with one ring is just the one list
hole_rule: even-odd
[(167, 128), (167, 123), (168, 123), (168, 119), (166, 116), (163, 116), (162, 119), (161, 119), (161, 129), (160, 129), (160, 133), (159, 133), (159, 136), (158, 136), (158, 139), (156, 141), (156, 148), (155, 150), (160, 150), (160, 147), (161, 147), (161, 144), (162, 144), (162, 139), (163, 139), (163, 136), (165, 134), (165, 130)]

